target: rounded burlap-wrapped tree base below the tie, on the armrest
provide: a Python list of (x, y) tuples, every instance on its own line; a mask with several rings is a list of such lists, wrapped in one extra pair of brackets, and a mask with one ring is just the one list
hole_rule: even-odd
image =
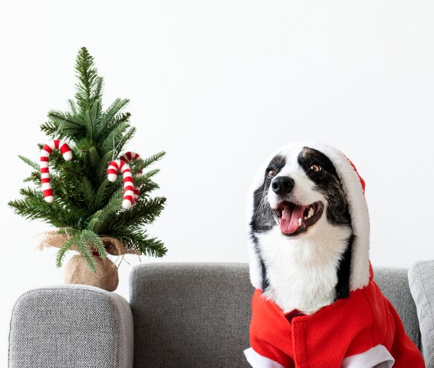
[(92, 273), (82, 256), (72, 256), (64, 268), (64, 282), (96, 286), (107, 291), (116, 290), (119, 283), (116, 265), (110, 259), (98, 256), (94, 256), (94, 262), (96, 272)]

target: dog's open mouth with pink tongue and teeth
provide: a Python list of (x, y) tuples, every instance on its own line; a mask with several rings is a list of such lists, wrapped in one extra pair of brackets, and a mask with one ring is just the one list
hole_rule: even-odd
[(285, 235), (297, 235), (308, 229), (320, 220), (322, 202), (314, 202), (307, 206), (298, 206), (293, 202), (281, 202), (275, 209), (277, 218), (279, 219), (280, 231)]

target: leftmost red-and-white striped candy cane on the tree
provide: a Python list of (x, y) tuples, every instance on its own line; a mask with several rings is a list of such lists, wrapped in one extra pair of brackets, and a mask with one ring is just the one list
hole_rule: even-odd
[(54, 139), (42, 148), (40, 159), (42, 192), (44, 193), (44, 200), (49, 203), (54, 200), (49, 171), (49, 157), (53, 150), (60, 150), (65, 161), (71, 161), (72, 159), (71, 148), (63, 140)]

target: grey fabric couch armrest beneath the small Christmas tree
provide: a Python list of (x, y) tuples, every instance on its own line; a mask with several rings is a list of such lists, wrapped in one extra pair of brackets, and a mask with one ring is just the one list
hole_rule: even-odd
[(132, 367), (133, 325), (128, 301), (83, 285), (37, 288), (12, 310), (10, 368)]

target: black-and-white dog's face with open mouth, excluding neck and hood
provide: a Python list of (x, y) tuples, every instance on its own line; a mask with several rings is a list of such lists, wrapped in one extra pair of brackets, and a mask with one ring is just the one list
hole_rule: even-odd
[(254, 191), (250, 226), (253, 236), (279, 227), (288, 245), (326, 228), (349, 227), (347, 200), (330, 159), (309, 147), (273, 157)]

